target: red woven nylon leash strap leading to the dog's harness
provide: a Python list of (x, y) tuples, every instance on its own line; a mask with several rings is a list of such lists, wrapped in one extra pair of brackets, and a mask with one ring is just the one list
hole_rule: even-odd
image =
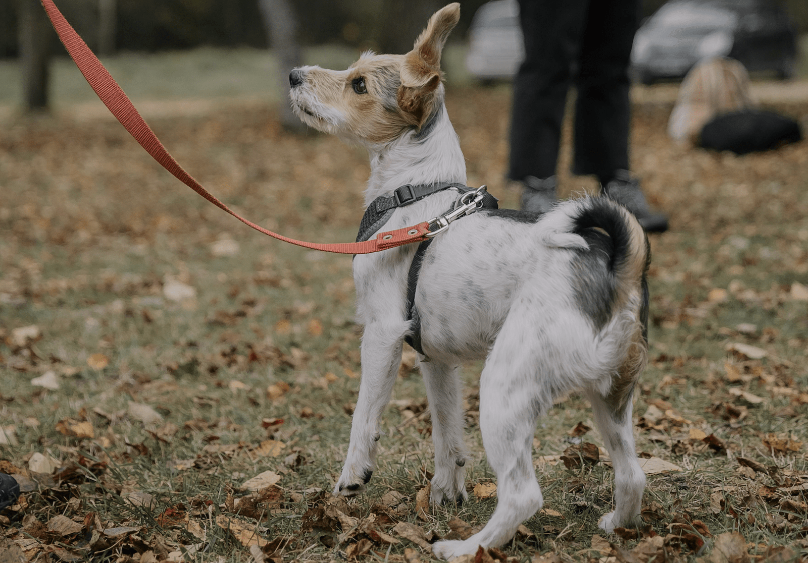
[(135, 140), (141, 144), (141, 147), (145, 148), (146, 152), (166, 170), (174, 174), (180, 181), (183, 181), (191, 190), (194, 190), (197, 194), (207, 199), (208, 202), (227, 211), (242, 223), (253, 227), (256, 231), (263, 232), (264, 235), (269, 235), (278, 240), (283, 240), (284, 242), (297, 244), (297, 246), (305, 248), (313, 248), (314, 250), (338, 252), (339, 254), (368, 254), (370, 252), (379, 252), (387, 248), (402, 246), (402, 244), (427, 240), (425, 235), (429, 232), (429, 223), (426, 221), (418, 225), (413, 225), (412, 227), (381, 232), (375, 239), (365, 240), (364, 242), (320, 244), (290, 239), (244, 219), (241, 215), (238, 215), (235, 211), (219, 201), (219, 199), (208, 192), (208, 190), (205, 190), (198, 181), (191, 177), (191, 174), (183, 170), (183, 167), (180, 166), (177, 161), (174, 160), (174, 157), (168, 153), (166, 148), (162, 146), (160, 140), (154, 135), (154, 131), (151, 130), (149, 125), (137, 112), (137, 109), (135, 109), (135, 106), (133, 106), (128, 96), (124, 94), (124, 90), (121, 90), (112, 75), (107, 72), (107, 69), (105, 69), (101, 61), (98, 60), (98, 57), (90, 51), (90, 48), (87, 47), (82, 38), (78, 36), (74, 28), (70, 26), (65, 16), (61, 15), (61, 12), (53, 3), (53, 0), (41, 0), (41, 2), (45, 11), (48, 13), (48, 18), (50, 18), (54, 29), (56, 29), (59, 35), (59, 39), (65, 44), (65, 48), (67, 48), (67, 52), (69, 52), (70, 56), (73, 58), (76, 66), (82, 71), (82, 74), (90, 83), (90, 86), (95, 90), (95, 94), (98, 94), (101, 101), (107, 106), (107, 109), (112, 111), (112, 115), (115, 115), (116, 119), (120, 121), (120, 124), (123, 125)]

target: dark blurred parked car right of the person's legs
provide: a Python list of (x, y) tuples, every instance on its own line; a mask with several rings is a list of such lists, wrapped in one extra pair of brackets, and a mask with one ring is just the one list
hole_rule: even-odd
[(646, 84), (680, 78), (699, 60), (730, 56), (751, 72), (793, 75), (797, 36), (781, 6), (766, 0), (672, 0), (634, 36), (632, 72)]

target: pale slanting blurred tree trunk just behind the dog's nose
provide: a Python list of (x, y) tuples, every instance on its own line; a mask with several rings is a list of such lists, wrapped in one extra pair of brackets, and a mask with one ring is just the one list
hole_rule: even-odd
[(259, 0), (267, 43), (278, 57), (278, 81), (283, 93), (280, 103), (280, 123), (292, 131), (303, 131), (305, 125), (289, 106), (289, 72), (301, 65), (301, 48), (297, 44), (297, 21), (288, 0)]

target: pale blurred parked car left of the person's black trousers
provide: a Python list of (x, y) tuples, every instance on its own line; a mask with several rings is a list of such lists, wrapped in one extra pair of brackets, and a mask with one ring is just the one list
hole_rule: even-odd
[(481, 80), (510, 79), (523, 59), (519, 3), (494, 0), (480, 6), (469, 27), (469, 73)]

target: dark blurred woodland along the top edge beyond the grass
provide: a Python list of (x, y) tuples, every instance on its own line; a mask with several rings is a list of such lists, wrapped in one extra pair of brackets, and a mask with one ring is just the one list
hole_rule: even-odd
[[(406, 52), (431, 13), (447, 0), (57, 0), (57, 6), (99, 55), (116, 50), (156, 52), (250, 46), (276, 48), (284, 67), (300, 60), (301, 45), (347, 44)], [(806, 0), (785, 4), (799, 33), (808, 32)], [(450, 41), (463, 41), (484, 0), (463, 0)], [(664, 0), (643, 0), (650, 15)], [(0, 57), (21, 57), (29, 107), (47, 102), (48, 55), (63, 54), (43, 26), (38, 0), (0, 0)]]

